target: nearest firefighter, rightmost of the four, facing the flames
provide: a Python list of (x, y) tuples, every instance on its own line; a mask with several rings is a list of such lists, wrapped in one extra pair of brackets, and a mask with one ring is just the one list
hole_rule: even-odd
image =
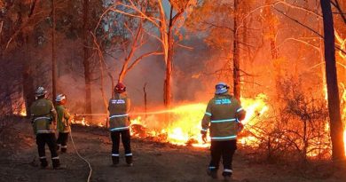
[(237, 149), (237, 133), (243, 128), (240, 123), (245, 118), (245, 110), (240, 106), (240, 101), (229, 92), (226, 83), (217, 83), (213, 99), (208, 102), (208, 107), (201, 122), (201, 134), (207, 140), (207, 131), (210, 131), (211, 161), (208, 165), (208, 175), (217, 178), (217, 170), (222, 157), (224, 164), (223, 176), (225, 179), (232, 176), (232, 157)]

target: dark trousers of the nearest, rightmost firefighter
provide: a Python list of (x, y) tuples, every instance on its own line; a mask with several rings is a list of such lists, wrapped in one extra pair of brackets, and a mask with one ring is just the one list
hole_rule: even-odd
[(209, 163), (209, 170), (216, 172), (219, 167), (221, 156), (223, 158), (224, 172), (223, 176), (232, 175), (232, 159), (235, 150), (237, 149), (237, 140), (227, 141), (211, 141), (210, 153), (211, 161)]

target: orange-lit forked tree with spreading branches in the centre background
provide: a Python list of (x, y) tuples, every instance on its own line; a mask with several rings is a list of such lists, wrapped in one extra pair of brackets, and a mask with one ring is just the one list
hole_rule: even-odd
[[(188, 8), (194, 4), (194, 1), (170, 0), (169, 17), (166, 16), (162, 0), (146, 2), (146, 4), (150, 6), (149, 9), (151, 11), (149, 12), (146, 11), (147, 9), (142, 7), (143, 4), (145, 3), (133, 0), (117, 2), (109, 8), (109, 11), (119, 12), (130, 17), (143, 19), (158, 30), (155, 31), (155, 29), (152, 29), (152, 32), (148, 33), (160, 42), (163, 51), (166, 66), (163, 86), (163, 102), (165, 107), (169, 107), (172, 99), (171, 76), (173, 72), (174, 36), (177, 36), (178, 29), (180, 28), (178, 22), (185, 19), (185, 12), (187, 12)], [(156, 35), (156, 32), (158, 32), (159, 35)]]

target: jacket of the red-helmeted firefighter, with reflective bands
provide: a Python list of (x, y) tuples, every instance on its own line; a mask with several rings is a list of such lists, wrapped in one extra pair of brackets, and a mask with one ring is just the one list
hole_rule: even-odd
[(123, 93), (115, 93), (114, 98), (109, 99), (109, 130), (130, 130), (130, 99)]

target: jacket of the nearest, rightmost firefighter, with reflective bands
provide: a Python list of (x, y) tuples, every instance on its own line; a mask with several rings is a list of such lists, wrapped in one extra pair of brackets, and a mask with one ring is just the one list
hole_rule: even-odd
[(240, 121), (244, 119), (245, 114), (239, 101), (228, 92), (215, 95), (208, 102), (201, 122), (201, 133), (207, 133), (209, 129), (212, 141), (236, 139)]

